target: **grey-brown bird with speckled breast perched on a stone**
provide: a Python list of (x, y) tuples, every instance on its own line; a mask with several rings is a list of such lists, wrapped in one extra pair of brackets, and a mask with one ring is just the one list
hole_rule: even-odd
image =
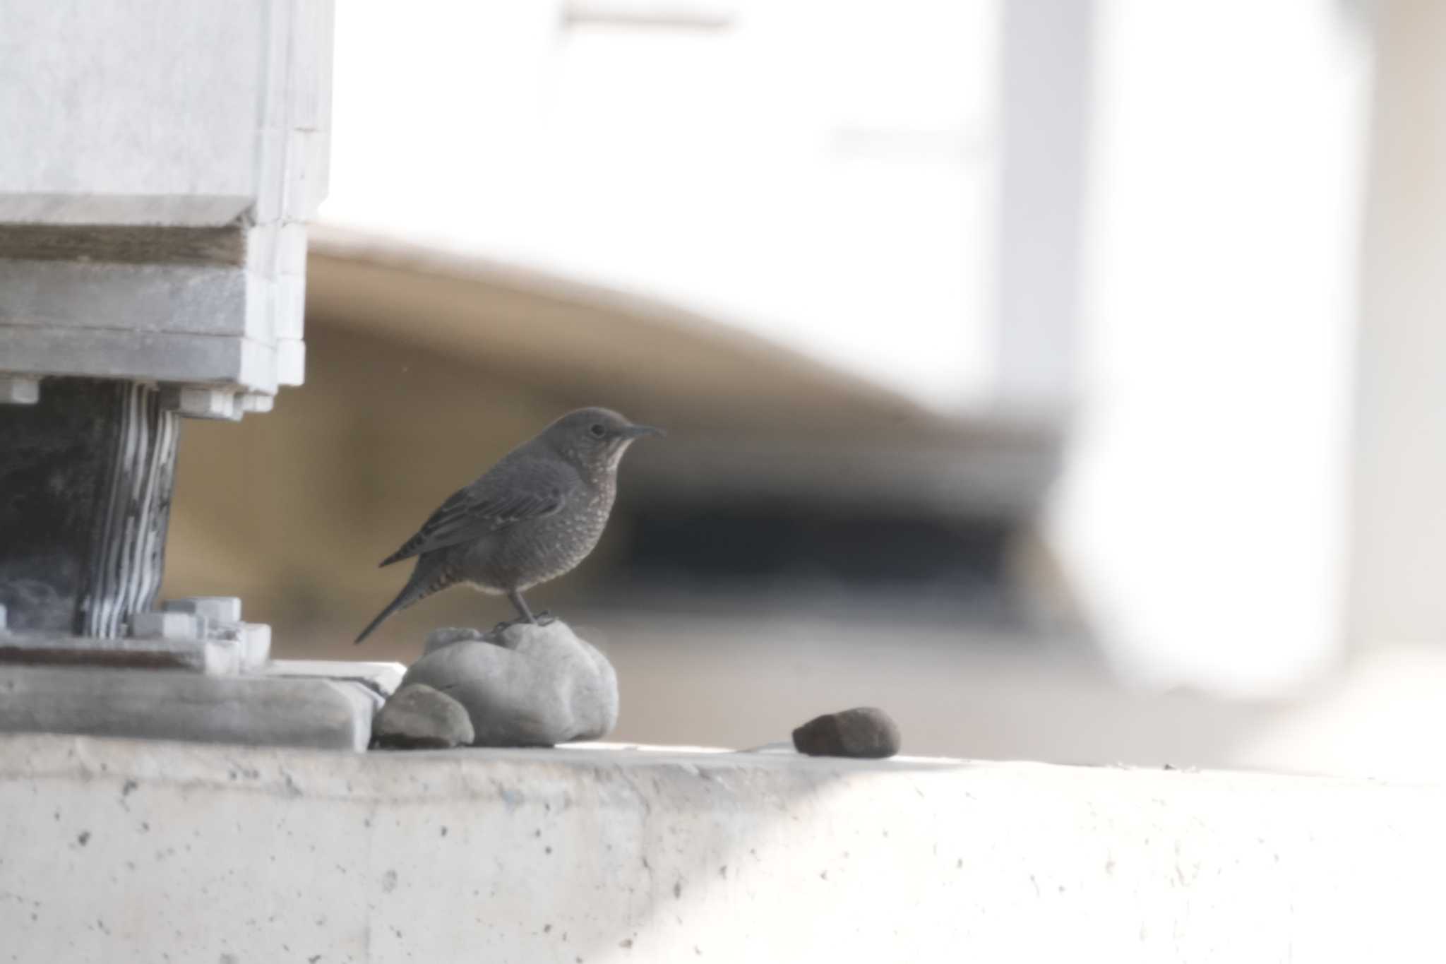
[(609, 409), (578, 409), (503, 455), (382, 559), (390, 565), (415, 555), (416, 568), (357, 642), (392, 613), (458, 584), (506, 595), (522, 620), (536, 623), (523, 590), (571, 571), (593, 551), (617, 494), (617, 462), (643, 435), (662, 429)]

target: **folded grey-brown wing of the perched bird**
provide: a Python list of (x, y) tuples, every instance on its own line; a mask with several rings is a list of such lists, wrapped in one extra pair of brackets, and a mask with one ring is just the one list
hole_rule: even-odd
[(453, 493), (415, 536), (382, 559), (382, 565), (480, 539), (525, 519), (551, 516), (567, 504), (570, 483), (574, 481), (570, 470), (558, 462), (499, 462), (473, 484)]

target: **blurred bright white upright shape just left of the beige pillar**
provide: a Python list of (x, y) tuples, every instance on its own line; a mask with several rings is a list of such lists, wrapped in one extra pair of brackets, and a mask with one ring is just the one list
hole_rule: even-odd
[(1369, 25), (1339, 0), (1096, 23), (1051, 536), (1125, 673), (1278, 692), (1346, 636)]

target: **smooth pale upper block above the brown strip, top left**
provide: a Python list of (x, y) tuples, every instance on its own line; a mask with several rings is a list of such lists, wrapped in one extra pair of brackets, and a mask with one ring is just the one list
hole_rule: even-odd
[(314, 212), (330, 127), (328, 0), (12, 6), (0, 36), (0, 129), (14, 134), (0, 158), (0, 221), (201, 225), (247, 208), (262, 223)]

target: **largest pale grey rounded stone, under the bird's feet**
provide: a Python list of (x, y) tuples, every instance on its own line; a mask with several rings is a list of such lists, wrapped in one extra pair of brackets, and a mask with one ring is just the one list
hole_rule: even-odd
[(466, 707), (473, 746), (597, 740), (617, 724), (612, 663), (565, 623), (438, 630), (427, 649), (402, 687), (425, 684)]

